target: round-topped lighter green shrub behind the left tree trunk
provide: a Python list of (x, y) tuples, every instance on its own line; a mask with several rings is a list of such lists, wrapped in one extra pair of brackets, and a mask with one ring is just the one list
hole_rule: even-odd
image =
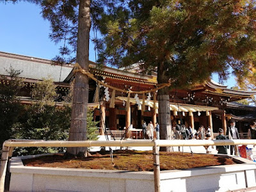
[[(12, 138), (26, 140), (67, 140), (70, 129), (71, 105), (55, 106), (56, 86), (52, 79), (44, 79), (33, 88), (33, 104), (26, 106), (19, 121), (12, 126)], [(97, 140), (98, 122), (93, 121), (93, 111), (88, 110), (88, 140)], [(16, 148), (15, 155), (65, 152), (65, 148)]]

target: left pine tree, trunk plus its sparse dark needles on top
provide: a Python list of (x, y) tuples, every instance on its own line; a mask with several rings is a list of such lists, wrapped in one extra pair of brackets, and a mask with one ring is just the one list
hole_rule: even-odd
[[(0, 0), (16, 3), (17, 0)], [(60, 55), (54, 58), (54, 63), (62, 65), (66, 62), (76, 61), (88, 70), (89, 67), (89, 38), (91, 17), (99, 20), (99, 13), (104, 10), (104, 5), (113, 6), (115, 0), (63, 0), (63, 1), (38, 1), (24, 0), (38, 4), (42, 8), (42, 17), (51, 23), (52, 33), (50, 38), (58, 43), (63, 40), (65, 45), (60, 47)], [(92, 9), (92, 12), (90, 10)], [(66, 58), (76, 52), (76, 58)], [(77, 72), (74, 83), (74, 99), (72, 100), (72, 117), (69, 140), (86, 140), (86, 114), (88, 104), (88, 77)], [(70, 154), (86, 156), (86, 148), (68, 148)]]

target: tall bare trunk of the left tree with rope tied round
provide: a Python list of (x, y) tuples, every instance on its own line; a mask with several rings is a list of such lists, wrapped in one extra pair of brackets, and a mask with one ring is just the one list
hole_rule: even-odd
[[(90, 0), (80, 0), (76, 60), (77, 63), (79, 63), (79, 65), (85, 70), (88, 70), (89, 68), (90, 28)], [(68, 138), (70, 141), (86, 140), (88, 90), (88, 77), (84, 76), (80, 72), (77, 72), (74, 83), (71, 125)], [(84, 154), (86, 156), (87, 148), (68, 148), (67, 152), (74, 155)]]

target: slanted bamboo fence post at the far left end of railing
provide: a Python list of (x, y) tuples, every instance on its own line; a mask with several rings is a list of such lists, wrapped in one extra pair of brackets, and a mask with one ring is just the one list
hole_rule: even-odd
[[(0, 167), (0, 192), (4, 192), (4, 180), (6, 175), (9, 150), (10, 148), (4, 146), (4, 143), (3, 143), (3, 151), (2, 151), (1, 167)], [(10, 154), (12, 154), (12, 152)]]

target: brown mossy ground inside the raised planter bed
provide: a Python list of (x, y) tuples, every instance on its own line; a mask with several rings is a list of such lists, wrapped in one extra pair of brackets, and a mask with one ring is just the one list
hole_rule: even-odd
[[(113, 161), (112, 161), (113, 160)], [(67, 159), (64, 154), (41, 156), (25, 159), (26, 166), (41, 166), (55, 168), (84, 168), (101, 170), (129, 170), (152, 172), (152, 151), (116, 150), (111, 159), (108, 151), (93, 152), (91, 157)], [(160, 152), (161, 170), (180, 170), (221, 164), (236, 164), (232, 158), (212, 154), (188, 154), (182, 152)]]

